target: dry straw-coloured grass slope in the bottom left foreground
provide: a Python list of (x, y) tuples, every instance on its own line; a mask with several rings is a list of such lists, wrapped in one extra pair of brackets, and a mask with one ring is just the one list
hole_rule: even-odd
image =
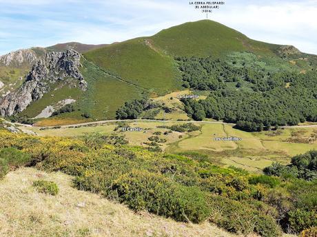
[[(209, 223), (177, 223), (72, 187), (71, 176), (33, 168), (0, 181), (0, 236), (234, 236)], [(36, 192), (32, 183), (54, 181), (59, 194)]]

